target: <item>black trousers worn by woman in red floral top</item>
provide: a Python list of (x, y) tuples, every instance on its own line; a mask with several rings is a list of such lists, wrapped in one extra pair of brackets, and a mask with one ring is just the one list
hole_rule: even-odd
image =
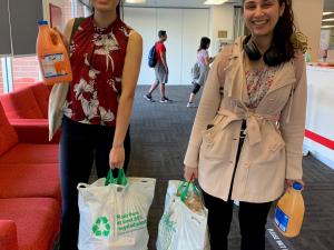
[[(109, 171), (109, 152), (112, 147), (115, 128), (84, 124), (63, 118), (60, 139), (60, 182), (62, 216), (60, 249), (77, 250), (79, 232), (78, 190), (79, 182), (88, 182), (95, 161), (98, 178)], [(127, 170), (130, 154), (130, 137), (125, 142), (125, 164)], [(114, 171), (117, 176), (117, 170)]]

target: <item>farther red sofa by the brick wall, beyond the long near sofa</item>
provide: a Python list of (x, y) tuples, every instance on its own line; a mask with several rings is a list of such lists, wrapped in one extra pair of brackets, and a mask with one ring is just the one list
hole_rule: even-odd
[[(35, 134), (27, 132), (30, 128), (39, 127), (42, 137), (48, 138), (48, 102), (50, 87), (43, 82), (37, 82), (20, 90), (0, 94), (0, 102), (6, 111), (9, 122), (16, 127), (20, 137), (33, 141)], [(24, 133), (21, 133), (23, 129)], [(51, 143), (58, 143), (58, 131)]]

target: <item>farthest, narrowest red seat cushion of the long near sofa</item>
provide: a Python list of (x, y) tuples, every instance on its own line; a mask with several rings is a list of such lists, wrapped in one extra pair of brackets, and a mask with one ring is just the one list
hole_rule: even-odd
[(18, 143), (0, 157), (3, 163), (58, 163), (58, 144)]

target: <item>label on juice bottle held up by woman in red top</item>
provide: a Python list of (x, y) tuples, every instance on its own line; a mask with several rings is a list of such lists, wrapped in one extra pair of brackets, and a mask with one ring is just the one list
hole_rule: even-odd
[(45, 78), (66, 76), (66, 62), (63, 53), (51, 53), (41, 57), (41, 66)]

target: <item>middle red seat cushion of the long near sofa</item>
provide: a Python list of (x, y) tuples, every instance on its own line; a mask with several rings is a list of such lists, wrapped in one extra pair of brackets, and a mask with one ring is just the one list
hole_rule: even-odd
[(60, 202), (58, 163), (0, 164), (0, 199), (49, 197)]

